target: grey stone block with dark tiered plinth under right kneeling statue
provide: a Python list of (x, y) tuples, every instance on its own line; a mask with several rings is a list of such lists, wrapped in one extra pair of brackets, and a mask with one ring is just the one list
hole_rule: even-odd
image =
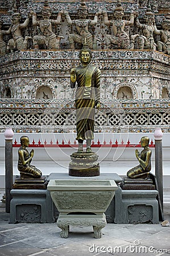
[(119, 194), (119, 214), (115, 222), (121, 223), (159, 223), (159, 207), (156, 197), (158, 191), (152, 179), (129, 179), (124, 177)]

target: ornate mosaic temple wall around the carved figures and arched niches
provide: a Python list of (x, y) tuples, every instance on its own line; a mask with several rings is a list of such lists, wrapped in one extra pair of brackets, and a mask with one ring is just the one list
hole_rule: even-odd
[[(150, 3), (149, 7), (148, 3)], [(103, 12), (107, 11), (108, 19), (112, 20), (114, 10), (118, 8), (118, 1), (85, 1), (85, 4), (89, 11), (89, 19), (93, 19), (96, 11), (101, 9)], [(80, 7), (78, 1), (48, 1), (47, 5), (52, 10), (51, 19), (56, 19), (61, 10), (68, 11), (72, 20), (78, 19), (77, 11)], [(16, 10), (21, 14), (20, 23), (30, 15), (30, 10), (36, 13), (37, 20), (42, 20), (43, 8), (42, 1), (2, 1), (0, 11), (2, 28), (5, 31), (9, 28), (11, 14)], [(145, 22), (146, 13), (152, 12), (159, 29), (170, 10), (169, 1), (121, 1), (119, 8), (124, 10), (125, 20), (130, 20), (131, 13), (138, 11), (141, 24)], [(74, 98), (74, 91), (69, 88), (69, 71), (79, 63), (78, 48), (81, 48), (80, 44), (76, 44), (76, 49), (70, 49), (69, 35), (76, 33), (75, 26), (69, 25), (66, 16), (62, 14), (60, 24), (52, 26), (56, 35), (64, 36), (60, 40), (59, 49), (55, 51), (45, 48), (34, 49), (34, 36), (42, 32), (40, 27), (33, 26), (32, 16), (29, 17), (28, 26), (22, 30), (23, 37), (30, 37), (27, 40), (27, 50), (15, 49), (14, 52), (11, 51), (1, 57), (0, 97), (30, 100)], [(96, 40), (92, 62), (101, 69), (102, 73), (101, 98), (169, 98), (169, 55), (156, 52), (152, 48), (145, 47), (139, 50), (138, 37), (135, 38), (134, 49), (115, 49), (118, 46), (107, 46), (106, 35), (113, 35), (113, 31), (111, 26), (104, 23), (104, 17), (105, 15), (100, 13), (97, 24), (89, 26), (93, 42)], [(126, 26), (125, 32), (131, 38), (140, 30), (134, 23), (133, 26)], [(10, 39), (11, 34), (3, 36), (6, 45)], [(154, 34), (154, 39), (156, 42), (160, 40), (160, 36)]]

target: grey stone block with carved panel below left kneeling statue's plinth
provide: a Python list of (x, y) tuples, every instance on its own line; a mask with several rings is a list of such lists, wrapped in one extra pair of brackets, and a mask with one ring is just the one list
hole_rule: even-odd
[(12, 189), (10, 223), (51, 223), (53, 204), (46, 189)]

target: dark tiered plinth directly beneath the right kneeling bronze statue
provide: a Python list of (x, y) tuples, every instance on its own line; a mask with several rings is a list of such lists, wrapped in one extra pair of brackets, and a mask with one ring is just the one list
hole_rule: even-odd
[(123, 190), (155, 190), (152, 179), (130, 179), (124, 177), (121, 188)]

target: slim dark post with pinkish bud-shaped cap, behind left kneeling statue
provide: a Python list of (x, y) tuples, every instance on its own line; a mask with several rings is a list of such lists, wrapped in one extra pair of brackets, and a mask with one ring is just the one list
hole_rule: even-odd
[(5, 194), (6, 212), (10, 213), (11, 189), (13, 188), (13, 130), (7, 128), (5, 133)]

